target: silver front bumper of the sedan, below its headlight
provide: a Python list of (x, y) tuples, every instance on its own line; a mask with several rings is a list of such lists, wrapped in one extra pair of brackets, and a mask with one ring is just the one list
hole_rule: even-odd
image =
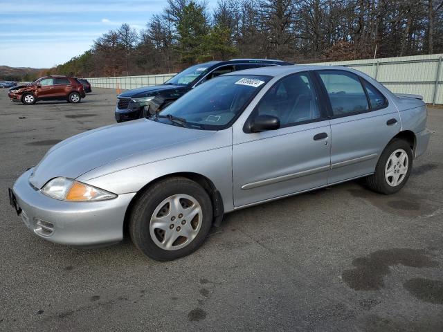
[(123, 239), (123, 221), (135, 193), (98, 202), (66, 202), (45, 196), (31, 187), (29, 169), (15, 181), (22, 221), (34, 234), (54, 243), (97, 246)]

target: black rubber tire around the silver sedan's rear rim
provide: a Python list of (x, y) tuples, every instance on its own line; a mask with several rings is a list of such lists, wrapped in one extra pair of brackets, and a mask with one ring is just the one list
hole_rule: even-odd
[[(403, 149), (408, 155), (408, 169), (406, 174), (404, 174), (404, 178), (401, 180), (401, 182), (398, 185), (392, 186), (389, 185), (388, 181), (386, 180), (385, 167), (386, 163), (388, 163), (390, 155), (397, 149)], [(386, 195), (394, 194), (395, 192), (401, 190), (401, 188), (404, 187), (404, 185), (406, 185), (412, 167), (413, 167), (413, 152), (412, 149), (410, 148), (409, 143), (406, 142), (405, 140), (394, 138), (389, 142), (388, 146), (381, 153), (377, 166), (375, 167), (375, 173), (366, 178), (366, 183), (368, 187), (374, 192), (379, 192), (380, 194), (386, 194)]]

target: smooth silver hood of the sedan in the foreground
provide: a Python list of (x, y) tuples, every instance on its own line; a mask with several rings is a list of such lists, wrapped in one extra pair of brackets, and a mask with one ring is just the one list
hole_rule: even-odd
[[(140, 119), (94, 129), (52, 147), (33, 169), (30, 183), (41, 188), (57, 176), (78, 178), (82, 174), (129, 156), (182, 144), (213, 135), (215, 131), (187, 129)], [(187, 151), (192, 153), (192, 151)], [(125, 165), (128, 167), (131, 165)]]

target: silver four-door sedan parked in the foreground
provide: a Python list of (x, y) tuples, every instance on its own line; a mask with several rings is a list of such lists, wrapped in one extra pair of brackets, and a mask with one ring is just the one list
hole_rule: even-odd
[(351, 68), (229, 73), (150, 118), (58, 143), (10, 201), (48, 241), (114, 243), (127, 226), (145, 255), (176, 259), (227, 212), (362, 177), (397, 192), (428, 146), (426, 116)]

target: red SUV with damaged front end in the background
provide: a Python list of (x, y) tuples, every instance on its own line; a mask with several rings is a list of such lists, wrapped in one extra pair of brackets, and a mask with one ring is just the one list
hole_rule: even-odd
[(38, 100), (67, 100), (78, 103), (85, 93), (83, 85), (73, 77), (45, 76), (30, 84), (14, 86), (9, 89), (8, 95), (12, 102), (32, 105)]

